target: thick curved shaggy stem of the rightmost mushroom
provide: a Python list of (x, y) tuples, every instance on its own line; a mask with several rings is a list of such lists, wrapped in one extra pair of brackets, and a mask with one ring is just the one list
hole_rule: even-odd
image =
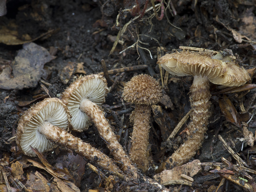
[(172, 154), (171, 157), (160, 167), (162, 169), (170, 169), (173, 166), (180, 166), (195, 156), (196, 151), (201, 147), (204, 141), (204, 133), (207, 131), (208, 118), (210, 113), (211, 93), (210, 85), (206, 76), (194, 76), (193, 84), (190, 87), (190, 103), (192, 107), (191, 121), (188, 125), (189, 135), (184, 144)]

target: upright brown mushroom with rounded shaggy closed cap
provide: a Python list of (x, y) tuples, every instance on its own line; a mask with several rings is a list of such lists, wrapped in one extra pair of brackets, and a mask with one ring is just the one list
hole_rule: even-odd
[(137, 75), (132, 77), (124, 87), (123, 97), (126, 102), (135, 103), (132, 113), (133, 131), (130, 157), (143, 172), (149, 168), (149, 118), (152, 104), (156, 104), (163, 96), (159, 83), (152, 76)]

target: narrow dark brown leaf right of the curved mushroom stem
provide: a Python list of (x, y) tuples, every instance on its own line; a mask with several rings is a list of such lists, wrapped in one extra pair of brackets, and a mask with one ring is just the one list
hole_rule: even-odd
[(221, 112), (224, 114), (227, 121), (233, 123), (237, 127), (241, 127), (241, 123), (236, 108), (231, 103), (227, 95), (224, 95), (223, 99), (219, 99), (219, 106)]

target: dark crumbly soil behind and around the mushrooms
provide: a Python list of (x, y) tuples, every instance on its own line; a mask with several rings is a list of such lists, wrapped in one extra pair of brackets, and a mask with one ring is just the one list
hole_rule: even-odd
[[(108, 70), (136, 65), (148, 65), (146, 69), (128, 71), (122, 74), (119, 83), (113, 91), (109, 93), (106, 98), (106, 103), (103, 105), (103, 109), (106, 111), (107, 118), (113, 125), (114, 131), (121, 136), (120, 143), (124, 148), (129, 150), (129, 136), (131, 136), (132, 133), (132, 124), (129, 123), (129, 115), (134, 105), (124, 105), (124, 101), (121, 97), (122, 86), (133, 76), (141, 73), (154, 76), (161, 83), (160, 70), (156, 64), (157, 47), (161, 47), (161, 56), (167, 51), (178, 49), (179, 46), (198, 47), (215, 51), (228, 48), (240, 55), (240, 58), (244, 60), (244, 68), (249, 69), (256, 66), (256, 31), (254, 30), (252, 33), (251, 30), (256, 23), (256, 8), (252, 5), (246, 5), (246, 3), (239, 4), (239, 2), (240, 1), (233, 2), (228, 0), (173, 0), (172, 3), (176, 9), (175, 16), (172, 16), (174, 12), (171, 13), (168, 8), (163, 20), (159, 21), (155, 17), (151, 20), (152, 23), (149, 23), (149, 20), (146, 19), (141, 21), (135, 20), (129, 25), (126, 32), (120, 38), (124, 44), (117, 44), (115, 51), (111, 55), (109, 55), (109, 52), (114, 44), (119, 29), (137, 16), (139, 11), (133, 11), (134, 15), (131, 15), (128, 11), (123, 12), (120, 15), (119, 26), (115, 25), (117, 14), (121, 9), (131, 8), (135, 4), (135, 1), (7, 0), (7, 14), (0, 18), (0, 23), (2, 26), (7, 26), (11, 22), (16, 23), (18, 26), (17, 33), (20, 39), (22, 39), (25, 34), (28, 34), (33, 39), (50, 29), (55, 29), (55, 32), (48, 38), (40, 38), (34, 41), (34, 43), (46, 48), (48, 51), (50, 51), (50, 47), (54, 48), (52, 54), (56, 56), (56, 59), (44, 65), (44, 75), (41, 78), (50, 84), (46, 87), (49, 91), (49, 95), (52, 97), (60, 97), (60, 93), (73, 82), (75, 77), (80, 75), (80, 73), (75, 73), (74, 70), (71, 76), (67, 75), (68, 82), (62, 80), (63, 72), (61, 71), (63, 71), (63, 68), (66, 66), (72, 66), (70, 62), (76, 64), (84, 62), (83, 67), (87, 75), (103, 71), (101, 65), (102, 59), (105, 60)], [(139, 3), (140, 9), (142, 10), (144, 2), (139, 1)], [(156, 2), (156, 4), (157, 3), (159, 2)], [(148, 6), (151, 7), (151, 4), (149, 3)], [(159, 15), (160, 13), (161, 11), (158, 12)], [(154, 14), (153, 11), (145, 13), (143, 18), (149, 17), (151, 14)], [(168, 23), (166, 16), (172, 25)], [(249, 22), (249, 19), (246, 20), (247, 17), (252, 17), (253, 22)], [(250, 25), (252, 26), (250, 27)], [(246, 41), (238, 43), (233, 37), (232, 32), (227, 29), (227, 26), (251, 38), (251, 40), (243, 38)], [(247, 30), (243, 30), (244, 28)], [(246, 34), (245, 31), (247, 31)], [(146, 43), (139, 43), (140, 47), (147, 48), (151, 52), (153, 59), (150, 58), (150, 54), (147, 50), (141, 48), (138, 49), (140, 54), (138, 60), (139, 55), (136, 48), (130, 48), (121, 54), (119, 53), (134, 44), (137, 41), (138, 34), (144, 35), (139, 37), (141, 42)], [(0, 44), (0, 59), (12, 61), (20, 49), (22, 49), (22, 45)], [(73, 67), (75, 69), (76, 64)], [(1, 61), (0, 66), (3, 65), (4, 63)], [(164, 71), (164, 69), (162, 70)], [(2, 72), (2, 67), (0, 72)], [(164, 74), (165, 73), (163, 73), (163, 77)], [(111, 74), (110, 78), (115, 80), (119, 75), (120, 73)], [(252, 78), (252, 84), (254, 83), (255, 80)], [(25, 106), (19, 106), (19, 101), (32, 101), (35, 100), (34, 96), (46, 94), (40, 86), (41, 84), (41, 82), (38, 82), (36, 87), (21, 90), (0, 89), (0, 158), (3, 158), (4, 152), (9, 154), (10, 162), (15, 158), (21, 158), (21, 155), (15, 155), (14, 152), (10, 152), (11, 147), (15, 147), (15, 144), (7, 140), (15, 136), (13, 130), (17, 128), (19, 116), (33, 103), (39, 100)], [(171, 109), (165, 107), (163, 103), (159, 104), (163, 110), (162, 115), (167, 122), (167, 130), (165, 130), (165, 132), (160, 129), (159, 124), (155, 121), (156, 115), (152, 113), (152, 128), (149, 138), (152, 144), (151, 154), (153, 155), (155, 164), (160, 164), (165, 156), (170, 156), (174, 151), (173, 148), (161, 148), (161, 143), (165, 141), (166, 136), (172, 132), (180, 119), (189, 111), (190, 103), (188, 92), (191, 84), (191, 77), (180, 78), (171, 75), (169, 76), (168, 84), (165, 84), (164, 90), (171, 98), (174, 107)], [(212, 93), (218, 91), (215, 85), (211, 85), (211, 91)], [(227, 96), (236, 110), (240, 112), (240, 100), (244, 103), (245, 108), (248, 107), (251, 109), (251, 107), (256, 104), (255, 101), (250, 103), (254, 94), (255, 90), (252, 89), (247, 94), (246, 92), (238, 92), (228, 93)], [(234, 159), (232, 160), (232, 156), (228, 151), (224, 149), (217, 137), (218, 134), (222, 135), (235, 152), (241, 152), (243, 141), (240, 141), (239, 138), (243, 138), (242, 130), (228, 122), (221, 113), (218, 100), (222, 97), (223, 94), (216, 94), (212, 96), (211, 99), (212, 116), (210, 117), (207, 136), (202, 148), (195, 156), (195, 159), (199, 159), (201, 162), (221, 162), (221, 157), (223, 156), (234, 164), (236, 163)], [(114, 107), (118, 105), (121, 107)], [(252, 109), (249, 110), (249, 112), (250, 117), (255, 113)], [(187, 121), (187, 124), (188, 122), (189, 121)], [(183, 128), (185, 127), (186, 124), (183, 125)], [(256, 130), (255, 116), (250, 121), (249, 127), (249, 131), (254, 133)], [(180, 132), (181, 131), (182, 130), (180, 130)], [(85, 132), (74, 134), (84, 141), (91, 143), (92, 146), (100, 149), (104, 153), (109, 154), (104, 141), (100, 138), (97, 130), (93, 126)], [(177, 134), (177, 137), (178, 140), (173, 140), (173, 142), (180, 145), (185, 135), (184, 133), (182, 135)], [(246, 151), (249, 148), (250, 146), (246, 146), (244, 142), (243, 150)], [(56, 162), (57, 158), (65, 156), (65, 149), (61, 148), (58, 150), (64, 151), (64, 153), (45, 154), (46, 159), (52, 165), (58, 164), (59, 161)], [(240, 153), (240, 155), (247, 164), (250, 164), (250, 168), (255, 170), (256, 162), (254, 157), (256, 152), (254, 150), (254, 152), (249, 155), (247, 153)], [(66, 166), (68, 167), (68, 165)], [(83, 168), (79, 169), (82, 169), (83, 172)], [(194, 178), (194, 180), (196, 180), (195, 186), (183, 186), (181, 190), (193, 191), (196, 189), (197, 191), (207, 191), (211, 185), (217, 187), (221, 180), (220, 176), (216, 174), (217, 177), (215, 179), (205, 184), (205, 181), (208, 181), (208, 174), (209, 172), (203, 171), (202, 174), (200, 173)], [(151, 173), (151, 175), (154, 175), (154, 173)], [(255, 178), (255, 175), (252, 175), (252, 177)], [(84, 175), (81, 176), (80, 179), (81, 183), (77, 182), (77, 185), (80, 187), (81, 191), (97, 189), (101, 182), (99, 176), (92, 172), (87, 165), (85, 165)], [(227, 186), (225, 191), (243, 190), (242, 187), (238, 187), (238, 185), (235, 184), (227, 184)], [(179, 186), (176, 187), (179, 188)], [(102, 188), (99, 190), (101, 191), (101, 189)]]

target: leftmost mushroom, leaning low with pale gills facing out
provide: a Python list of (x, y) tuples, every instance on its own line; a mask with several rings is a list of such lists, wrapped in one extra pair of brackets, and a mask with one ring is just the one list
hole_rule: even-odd
[(120, 172), (118, 166), (107, 155), (68, 133), (66, 130), (69, 127), (70, 115), (66, 105), (60, 99), (46, 98), (21, 116), (16, 132), (16, 143), (25, 155), (36, 156), (30, 146), (43, 153), (52, 150), (52, 142), (56, 142), (108, 171), (117, 174)]

